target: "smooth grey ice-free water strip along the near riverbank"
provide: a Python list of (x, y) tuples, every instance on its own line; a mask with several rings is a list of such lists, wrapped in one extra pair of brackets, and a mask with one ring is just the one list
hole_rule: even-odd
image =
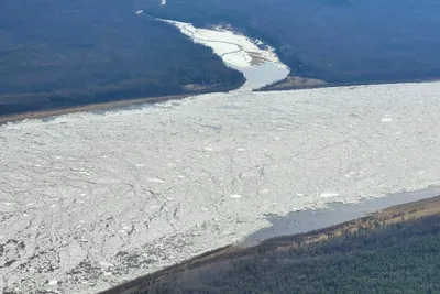
[(261, 229), (245, 239), (254, 243), (273, 237), (307, 232), (324, 227), (338, 225), (389, 206), (421, 200), (440, 195), (440, 187), (430, 187), (418, 192), (396, 193), (383, 198), (375, 198), (359, 204), (329, 204), (328, 208), (318, 210), (301, 210), (288, 214), (285, 217), (267, 215), (272, 226)]

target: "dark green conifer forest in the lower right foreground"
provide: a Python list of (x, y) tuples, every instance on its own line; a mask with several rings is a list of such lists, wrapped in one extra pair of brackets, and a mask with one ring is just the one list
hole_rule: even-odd
[(440, 216), (179, 271), (136, 293), (440, 293)]

